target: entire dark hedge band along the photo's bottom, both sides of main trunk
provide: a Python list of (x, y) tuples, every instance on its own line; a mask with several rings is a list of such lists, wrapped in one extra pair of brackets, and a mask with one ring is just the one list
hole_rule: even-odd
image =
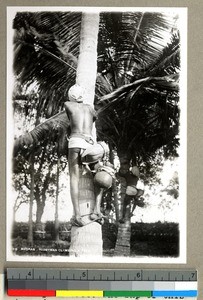
[[(70, 229), (69, 223), (60, 224), (60, 233), (64, 227)], [(24, 255), (68, 255), (70, 240), (56, 244), (54, 238), (54, 223), (45, 225), (46, 237), (35, 239), (34, 246), (29, 250), (26, 241), (28, 232), (27, 223), (15, 223), (13, 227), (13, 247), (18, 254)], [(117, 225), (105, 223), (102, 227), (104, 255), (112, 256), (116, 244)], [(62, 239), (63, 240), (63, 239)], [(24, 250), (20, 250), (25, 248)], [(41, 252), (38, 248), (41, 248)], [(26, 250), (27, 249), (27, 250)], [(33, 250), (32, 250), (33, 249)], [(37, 250), (38, 249), (38, 250)], [(43, 251), (44, 249), (44, 251)], [(49, 251), (45, 251), (49, 249)], [(51, 251), (51, 249), (55, 249)], [(131, 256), (163, 256), (177, 257), (179, 255), (179, 226), (177, 223), (132, 223), (131, 224)]]

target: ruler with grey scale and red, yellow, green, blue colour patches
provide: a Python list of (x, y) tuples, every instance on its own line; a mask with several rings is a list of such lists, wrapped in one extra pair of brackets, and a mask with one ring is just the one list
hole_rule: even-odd
[[(59, 273), (58, 273), (59, 272)], [(196, 271), (8, 269), (8, 296), (197, 297)]]

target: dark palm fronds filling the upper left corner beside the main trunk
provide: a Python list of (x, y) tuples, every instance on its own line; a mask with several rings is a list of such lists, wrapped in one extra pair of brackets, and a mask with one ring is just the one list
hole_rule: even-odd
[(59, 111), (75, 82), (80, 22), (81, 13), (71, 12), (19, 12), (14, 19), (14, 73), (22, 85), (37, 82), (47, 117)]

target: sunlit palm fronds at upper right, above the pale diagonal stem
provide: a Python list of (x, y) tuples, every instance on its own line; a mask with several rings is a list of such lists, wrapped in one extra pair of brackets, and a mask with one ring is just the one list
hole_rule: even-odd
[[(99, 54), (105, 56), (107, 71), (113, 72), (114, 78), (119, 78), (115, 82), (117, 88), (148, 76), (146, 70), (160, 59), (170, 41), (175, 16), (139, 11), (118, 15), (104, 13), (101, 23), (101, 43), (105, 45), (106, 55), (102, 46), (98, 48)], [(107, 26), (111, 30), (105, 31)], [(110, 56), (107, 51), (110, 51)], [(112, 69), (112, 62), (115, 70)]]

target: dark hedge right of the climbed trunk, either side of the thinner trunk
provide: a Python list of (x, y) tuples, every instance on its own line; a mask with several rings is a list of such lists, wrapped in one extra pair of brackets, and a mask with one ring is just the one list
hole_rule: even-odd
[[(116, 224), (103, 226), (104, 255), (112, 256), (116, 243)], [(179, 226), (177, 223), (132, 223), (131, 256), (179, 256)]]

